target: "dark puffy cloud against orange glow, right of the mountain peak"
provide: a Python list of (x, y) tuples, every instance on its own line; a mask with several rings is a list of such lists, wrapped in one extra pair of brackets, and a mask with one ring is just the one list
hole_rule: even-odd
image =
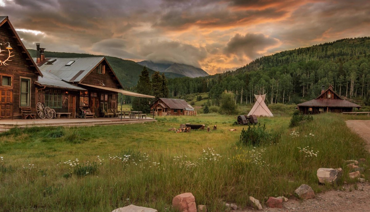
[(263, 34), (249, 33), (245, 36), (236, 34), (227, 43), (225, 53), (236, 54), (239, 57), (245, 55), (249, 59), (255, 59), (256, 57), (261, 56), (261, 54), (258, 52), (272, 47), (278, 43), (279, 41), (277, 39), (266, 37)]

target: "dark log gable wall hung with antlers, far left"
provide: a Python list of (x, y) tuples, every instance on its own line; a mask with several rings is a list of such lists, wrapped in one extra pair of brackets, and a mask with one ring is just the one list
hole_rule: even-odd
[[(11, 92), (11, 114), (10, 116), (1, 116), (0, 119), (20, 119), (21, 118), (21, 106), (20, 106), (20, 81), (21, 79), (28, 79), (29, 81), (29, 99), (28, 105), (22, 107), (29, 107), (31, 109), (36, 108), (35, 103), (35, 84), (37, 80), (38, 73), (37, 69), (33, 67), (31, 59), (28, 58), (26, 50), (23, 49), (19, 41), (16, 39), (16, 36), (11, 30), (9, 23), (4, 23), (0, 27), (0, 41), (9, 42), (10, 46), (13, 47), (11, 52), (14, 54), (14, 57), (11, 57), (11, 61), (7, 63), (9, 65), (0, 66), (0, 75), (11, 76), (11, 86), (10, 87), (0, 87), (0, 94), (5, 92)], [(1, 50), (5, 50), (0, 56), (0, 60), (4, 60), (7, 57), (8, 51), (5, 49), (5, 45), (0, 46)], [(1, 104), (1, 98), (0, 98)]]

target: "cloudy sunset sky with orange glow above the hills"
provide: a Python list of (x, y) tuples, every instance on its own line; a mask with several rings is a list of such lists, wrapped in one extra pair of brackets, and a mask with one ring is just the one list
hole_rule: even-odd
[(368, 0), (0, 0), (27, 48), (185, 63), (209, 74), (370, 36)]

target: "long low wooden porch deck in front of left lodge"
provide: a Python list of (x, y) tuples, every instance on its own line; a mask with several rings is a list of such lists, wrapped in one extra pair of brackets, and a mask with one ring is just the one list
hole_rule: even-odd
[(127, 125), (135, 123), (156, 122), (157, 120), (147, 117), (146, 119), (114, 118), (93, 118), (93, 119), (6, 119), (0, 120), (0, 133), (11, 128), (41, 127), (41, 126), (100, 126), (100, 125)]

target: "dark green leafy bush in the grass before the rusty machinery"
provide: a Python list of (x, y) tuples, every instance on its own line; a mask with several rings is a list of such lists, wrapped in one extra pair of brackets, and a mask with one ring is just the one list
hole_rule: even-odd
[(243, 145), (259, 146), (262, 143), (277, 143), (280, 137), (280, 133), (267, 132), (265, 125), (258, 124), (257, 127), (248, 125), (247, 130), (242, 129), (239, 142)]

